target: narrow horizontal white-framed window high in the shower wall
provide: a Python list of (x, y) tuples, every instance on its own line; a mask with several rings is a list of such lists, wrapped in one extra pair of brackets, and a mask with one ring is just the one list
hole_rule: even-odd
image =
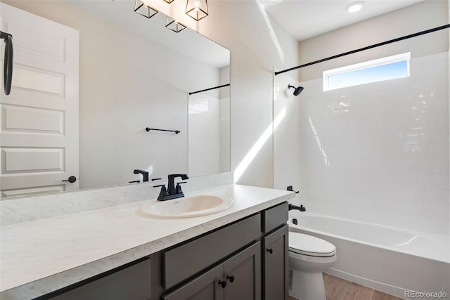
[(410, 58), (408, 52), (323, 71), (323, 91), (409, 77)]

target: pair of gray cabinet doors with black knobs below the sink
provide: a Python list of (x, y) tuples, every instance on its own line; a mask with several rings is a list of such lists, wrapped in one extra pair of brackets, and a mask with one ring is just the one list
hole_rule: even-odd
[(173, 292), (164, 300), (260, 300), (260, 242), (244, 249), (218, 266), (207, 270)]

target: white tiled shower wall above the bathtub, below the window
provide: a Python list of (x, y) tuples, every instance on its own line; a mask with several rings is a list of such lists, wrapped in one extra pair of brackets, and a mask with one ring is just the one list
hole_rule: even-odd
[[(448, 60), (415, 58), (409, 78), (333, 91), (322, 79), (300, 83), (285, 119), (299, 118), (297, 187), (309, 211), (449, 234)], [(295, 157), (283, 145), (294, 132), (281, 128), (278, 157)], [(276, 162), (283, 181), (288, 162)]]

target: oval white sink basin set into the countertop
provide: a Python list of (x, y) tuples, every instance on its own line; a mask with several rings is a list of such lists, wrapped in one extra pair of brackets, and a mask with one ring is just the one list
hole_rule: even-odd
[(212, 195), (181, 197), (174, 200), (143, 204), (139, 210), (145, 216), (155, 218), (191, 218), (224, 211), (233, 205), (231, 198)]

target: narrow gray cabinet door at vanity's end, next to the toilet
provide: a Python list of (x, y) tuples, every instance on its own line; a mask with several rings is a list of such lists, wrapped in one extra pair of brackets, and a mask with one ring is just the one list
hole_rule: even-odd
[(264, 299), (288, 299), (289, 244), (288, 226), (263, 238)]

